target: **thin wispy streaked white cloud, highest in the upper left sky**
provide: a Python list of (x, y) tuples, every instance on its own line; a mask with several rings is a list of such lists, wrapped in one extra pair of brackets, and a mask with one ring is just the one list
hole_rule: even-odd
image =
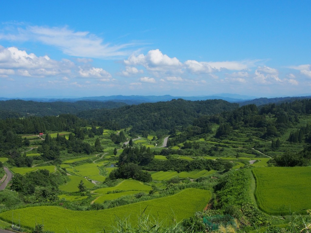
[(87, 31), (74, 31), (67, 26), (26, 26), (19, 25), (9, 33), (0, 34), (0, 39), (38, 41), (54, 46), (63, 53), (76, 57), (117, 58), (131, 54), (130, 47), (137, 43), (112, 45)]

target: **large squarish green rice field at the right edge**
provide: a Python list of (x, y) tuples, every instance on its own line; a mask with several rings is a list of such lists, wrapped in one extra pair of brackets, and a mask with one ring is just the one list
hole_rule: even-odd
[(264, 212), (289, 215), (311, 208), (311, 167), (257, 167), (253, 174), (257, 204)]

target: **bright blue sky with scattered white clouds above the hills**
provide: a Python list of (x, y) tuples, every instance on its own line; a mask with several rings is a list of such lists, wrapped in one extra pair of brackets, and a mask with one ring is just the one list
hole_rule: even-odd
[(311, 1), (3, 1), (0, 97), (311, 95)]

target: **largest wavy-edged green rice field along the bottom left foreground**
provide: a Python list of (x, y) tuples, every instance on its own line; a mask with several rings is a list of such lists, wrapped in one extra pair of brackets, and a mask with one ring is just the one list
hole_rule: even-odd
[(104, 210), (73, 211), (56, 206), (39, 206), (3, 212), (0, 218), (10, 223), (13, 219), (14, 224), (18, 224), (20, 220), (21, 226), (29, 229), (33, 229), (36, 221), (42, 221), (44, 230), (55, 233), (95, 233), (103, 229), (112, 230), (111, 225), (114, 225), (116, 216), (121, 219), (130, 216), (132, 223), (137, 222), (137, 215), (145, 208), (146, 214), (164, 221), (167, 225), (172, 218), (179, 222), (193, 216), (197, 211), (202, 211), (210, 198), (211, 193), (207, 190), (186, 189), (172, 196)]

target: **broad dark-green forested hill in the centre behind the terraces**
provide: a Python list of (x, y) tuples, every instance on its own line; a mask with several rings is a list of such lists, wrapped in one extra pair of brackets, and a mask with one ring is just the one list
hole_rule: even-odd
[(98, 121), (105, 128), (121, 129), (132, 126), (132, 131), (171, 130), (188, 126), (202, 115), (217, 114), (238, 108), (237, 103), (224, 100), (187, 101), (174, 99), (167, 102), (142, 103), (117, 109), (83, 111), (78, 117)]

